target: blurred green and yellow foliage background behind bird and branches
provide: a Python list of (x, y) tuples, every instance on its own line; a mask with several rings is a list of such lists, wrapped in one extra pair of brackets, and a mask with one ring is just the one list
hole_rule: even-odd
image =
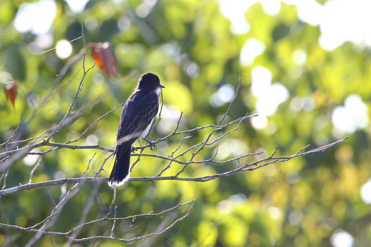
[[(242, 85), (227, 121), (247, 112), (259, 116), (243, 122), (197, 159), (212, 157), (217, 147), (220, 160), (257, 151), (265, 151), (266, 157), (276, 146), (277, 155), (293, 155), (308, 144), (315, 148), (349, 136), (320, 154), (208, 182), (125, 184), (116, 197), (118, 217), (198, 198), (190, 215), (151, 246), (370, 246), (370, 9), (371, 3), (362, 0), (1, 0), (0, 142), (12, 136), (22, 111), (20, 140), (42, 134), (63, 118), (83, 74), (82, 60), (73, 63), (58, 92), (37, 106), (65, 63), (83, 49), (82, 39), (77, 39), (82, 24), (86, 43), (111, 43), (119, 76), (107, 78), (97, 66), (88, 72), (76, 103), (76, 109), (86, 105), (83, 115), (59, 131), (54, 142), (66, 142), (71, 129), (77, 138), (125, 102), (144, 72), (157, 74), (166, 86), (162, 120), (152, 139), (173, 132), (181, 112), (180, 130), (216, 124), (241, 72)], [(90, 52), (86, 67), (94, 64)], [(13, 80), (18, 83), (14, 108), (4, 84)], [(120, 114), (118, 108), (103, 118), (77, 144), (112, 148)], [(207, 134), (194, 132), (183, 145), (197, 144)], [(168, 155), (180, 138), (159, 145), (154, 153)], [(92, 176), (108, 152), (59, 149), (42, 157), (33, 182), (79, 177), (95, 152), (88, 171)], [(7, 188), (26, 184), (38, 160), (38, 155), (29, 155), (12, 165)], [(99, 176), (108, 177), (112, 164), (109, 159), (107, 173)], [(131, 177), (156, 175), (165, 165), (142, 157)], [(236, 165), (193, 164), (183, 176), (214, 174)], [(181, 168), (173, 166), (169, 172)], [(83, 185), (50, 230), (68, 231), (78, 224), (93, 186)], [(49, 190), (59, 198), (66, 186)], [(106, 183), (100, 185), (87, 220), (107, 213), (112, 196)], [(7, 195), (0, 200), (1, 223), (28, 227), (42, 221), (51, 208), (48, 188)], [(117, 234), (137, 236), (156, 224), (147, 220), (130, 230), (121, 224)], [(0, 242), (12, 234), (0, 228)], [(22, 233), (10, 246), (23, 246), (30, 237)], [(65, 241), (43, 237), (37, 246), (62, 246)], [(101, 246), (112, 244), (120, 246), (109, 241)]]

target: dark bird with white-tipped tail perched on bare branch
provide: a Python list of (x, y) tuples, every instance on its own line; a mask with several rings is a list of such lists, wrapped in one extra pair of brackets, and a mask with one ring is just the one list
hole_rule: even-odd
[[(130, 157), (133, 143), (145, 139), (158, 113), (158, 92), (165, 88), (154, 73), (144, 73), (134, 93), (125, 102), (117, 130), (115, 162), (108, 185), (116, 187), (130, 177)], [(147, 139), (145, 139), (148, 141)]]

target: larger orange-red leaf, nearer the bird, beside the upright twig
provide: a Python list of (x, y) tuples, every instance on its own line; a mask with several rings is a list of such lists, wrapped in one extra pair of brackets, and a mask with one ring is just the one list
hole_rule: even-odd
[(117, 77), (116, 58), (109, 42), (93, 44), (92, 57), (106, 76)]

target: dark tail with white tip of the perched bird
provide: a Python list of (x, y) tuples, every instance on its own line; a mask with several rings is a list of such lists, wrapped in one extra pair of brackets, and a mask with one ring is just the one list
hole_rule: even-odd
[(112, 168), (111, 175), (109, 175), (109, 186), (120, 186), (129, 180), (130, 156), (131, 146), (125, 152), (116, 154), (114, 167)]

